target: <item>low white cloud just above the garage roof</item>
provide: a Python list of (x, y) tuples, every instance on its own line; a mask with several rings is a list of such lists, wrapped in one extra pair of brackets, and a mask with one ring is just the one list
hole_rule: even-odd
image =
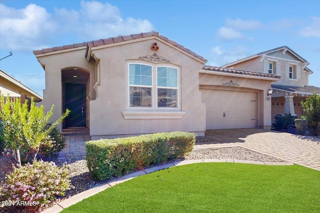
[(222, 66), (226, 63), (236, 61), (248, 56), (248, 49), (243, 46), (234, 46), (232, 49), (222, 49), (220, 46), (211, 48), (210, 59), (211, 66)]

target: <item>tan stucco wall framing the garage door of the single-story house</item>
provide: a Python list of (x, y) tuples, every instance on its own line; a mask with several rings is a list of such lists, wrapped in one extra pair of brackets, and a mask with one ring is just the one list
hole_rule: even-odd
[[(212, 72), (214, 73), (214, 72)], [(223, 83), (229, 81), (235, 82), (239, 86), (224, 86)], [(271, 126), (271, 100), (267, 96), (267, 90), (270, 88), (270, 80), (252, 79), (239, 75), (229, 76), (219, 74), (199, 74), (200, 88), (231, 90), (231, 91), (246, 91), (255, 92), (257, 97), (257, 123), (259, 128), (269, 129)]]

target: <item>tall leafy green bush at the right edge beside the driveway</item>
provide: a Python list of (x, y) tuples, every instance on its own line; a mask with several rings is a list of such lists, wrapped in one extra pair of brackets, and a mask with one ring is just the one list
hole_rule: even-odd
[(320, 122), (320, 96), (314, 92), (312, 96), (301, 102), (301, 107), (308, 120), (310, 132), (314, 135), (319, 135), (317, 128)]

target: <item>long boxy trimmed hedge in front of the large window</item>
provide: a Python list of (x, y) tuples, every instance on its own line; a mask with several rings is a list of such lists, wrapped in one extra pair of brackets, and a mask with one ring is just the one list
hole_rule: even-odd
[(100, 139), (85, 143), (86, 161), (92, 178), (104, 180), (181, 159), (192, 151), (194, 143), (195, 135), (187, 132)]

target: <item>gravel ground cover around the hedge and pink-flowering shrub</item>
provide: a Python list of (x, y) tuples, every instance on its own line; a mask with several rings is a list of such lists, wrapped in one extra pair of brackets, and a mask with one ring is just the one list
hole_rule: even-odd
[[(209, 137), (197, 137), (196, 144), (198, 143), (210, 143), (214, 142), (213, 138)], [(85, 157), (72, 157), (72, 158), (45, 158), (38, 156), (38, 159), (43, 161), (53, 161), (57, 166), (66, 164), (68, 166), (71, 184), (74, 189), (66, 192), (64, 197), (59, 199), (63, 200), (76, 195), (80, 192), (103, 184), (106, 181), (94, 181), (89, 173), (86, 166)], [(285, 162), (281, 159), (277, 159), (271, 156), (263, 155), (251, 150), (247, 150), (241, 147), (230, 147), (230, 148), (220, 148), (220, 149), (203, 149), (195, 150), (190, 152), (185, 158), (185, 160), (194, 159), (236, 159), (236, 160), (249, 160), (249, 161), (263, 161), (263, 162)], [(4, 179), (5, 174), (11, 170), (11, 165), (5, 156), (0, 156), (0, 181)], [(2, 209), (2, 210), (1, 210)], [(3, 208), (0, 208), (0, 213), (6, 212)]]

